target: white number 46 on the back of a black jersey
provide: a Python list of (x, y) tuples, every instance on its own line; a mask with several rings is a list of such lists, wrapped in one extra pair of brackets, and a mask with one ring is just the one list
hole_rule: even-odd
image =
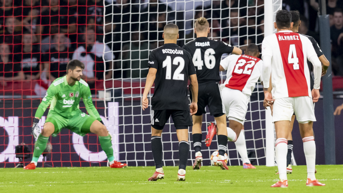
[[(215, 57), (213, 56), (215, 54), (214, 49), (209, 48), (205, 50), (204, 53), (204, 60), (205, 60), (205, 66), (208, 69), (212, 69), (215, 66)], [(198, 67), (198, 70), (202, 69), (202, 66), (204, 65), (204, 62), (201, 60), (201, 49), (197, 48), (193, 55), (193, 64), (194, 66)]]

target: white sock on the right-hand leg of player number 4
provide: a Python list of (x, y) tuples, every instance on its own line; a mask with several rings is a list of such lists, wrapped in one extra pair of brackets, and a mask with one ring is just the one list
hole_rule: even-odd
[(307, 178), (311, 180), (316, 180), (315, 170), (316, 170), (316, 143), (315, 137), (304, 137), (303, 138), (304, 144), (304, 152), (306, 158), (306, 166), (307, 166)]

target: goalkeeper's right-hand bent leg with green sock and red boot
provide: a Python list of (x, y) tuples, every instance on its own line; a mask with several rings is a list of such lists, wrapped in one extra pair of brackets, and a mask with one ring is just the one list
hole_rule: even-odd
[[(82, 127), (87, 127), (87, 125), (85, 125), (85, 124)], [(90, 128), (90, 132), (98, 135), (100, 146), (105, 151), (105, 154), (106, 154), (107, 159), (109, 161), (109, 166), (111, 168), (126, 168), (126, 167), (128, 167), (128, 164), (121, 163), (121, 162), (114, 160), (113, 148), (112, 148), (112, 137), (109, 134), (105, 125), (103, 125), (98, 120), (95, 120), (91, 124), (91, 126), (88, 128)]]

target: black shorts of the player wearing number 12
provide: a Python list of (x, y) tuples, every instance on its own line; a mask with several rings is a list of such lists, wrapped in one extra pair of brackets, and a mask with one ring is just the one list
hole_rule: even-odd
[(193, 125), (190, 111), (185, 110), (151, 110), (151, 126), (155, 129), (162, 130), (169, 117), (173, 118), (176, 129), (188, 129)]

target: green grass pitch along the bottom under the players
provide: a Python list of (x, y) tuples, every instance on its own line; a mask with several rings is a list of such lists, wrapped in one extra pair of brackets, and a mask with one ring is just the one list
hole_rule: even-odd
[(147, 181), (154, 167), (1, 168), (0, 192), (343, 192), (343, 165), (316, 167), (324, 187), (305, 186), (306, 166), (294, 166), (284, 189), (270, 188), (278, 180), (277, 167), (256, 167), (229, 166), (225, 171), (203, 166), (193, 171), (189, 166), (184, 182), (176, 181), (178, 167), (164, 167), (164, 179), (155, 182)]

